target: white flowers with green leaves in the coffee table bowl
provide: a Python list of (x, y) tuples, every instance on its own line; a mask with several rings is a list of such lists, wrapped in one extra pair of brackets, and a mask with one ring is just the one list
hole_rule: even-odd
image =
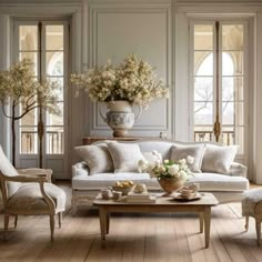
[(187, 181), (192, 172), (190, 171), (188, 164), (194, 162), (194, 158), (188, 155), (187, 159), (181, 159), (179, 161), (164, 160), (160, 162), (161, 154), (157, 151), (153, 151), (152, 154), (155, 157), (153, 163), (149, 163), (147, 160), (139, 161), (139, 171), (148, 172), (150, 178), (174, 178), (178, 180)]

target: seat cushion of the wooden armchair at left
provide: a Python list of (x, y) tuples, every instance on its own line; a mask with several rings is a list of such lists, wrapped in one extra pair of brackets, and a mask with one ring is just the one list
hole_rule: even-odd
[[(63, 190), (52, 183), (44, 183), (44, 191), (56, 203), (56, 213), (64, 211), (66, 193)], [(16, 194), (13, 194), (7, 203), (8, 210), (21, 212), (39, 211), (49, 213), (48, 203), (44, 201), (39, 183), (23, 183)]]

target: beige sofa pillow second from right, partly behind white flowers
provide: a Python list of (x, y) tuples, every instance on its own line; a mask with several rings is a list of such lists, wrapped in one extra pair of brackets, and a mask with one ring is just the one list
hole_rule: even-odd
[(205, 147), (204, 144), (174, 144), (172, 147), (171, 160), (178, 161), (187, 159), (188, 155), (194, 158), (192, 164), (188, 163), (189, 169), (194, 173), (200, 173), (203, 161)]

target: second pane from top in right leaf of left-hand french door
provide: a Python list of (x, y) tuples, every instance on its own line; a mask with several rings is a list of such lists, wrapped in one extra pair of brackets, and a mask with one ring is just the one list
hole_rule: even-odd
[(63, 75), (63, 52), (47, 52), (47, 74)]

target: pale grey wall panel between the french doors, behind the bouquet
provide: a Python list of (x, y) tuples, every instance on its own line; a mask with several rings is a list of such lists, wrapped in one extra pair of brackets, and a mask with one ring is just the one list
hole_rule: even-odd
[[(170, 6), (152, 8), (133, 6), (132, 8), (94, 7), (91, 9), (91, 61), (90, 64), (104, 64), (108, 58), (119, 63), (127, 54), (135, 53), (140, 59), (157, 68), (158, 78), (171, 85), (171, 9)], [(170, 104), (172, 97), (152, 102), (142, 112), (130, 134), (159, 135), (171, 134)], [(99, 105), (100, 107), (100, 105)], [(105, 108), (103, 110), (107, 111)], [(134, 110), (135, 112), (137, 110)], [(111, 130), (93, 105), (91, 133), (111, 134)]]

